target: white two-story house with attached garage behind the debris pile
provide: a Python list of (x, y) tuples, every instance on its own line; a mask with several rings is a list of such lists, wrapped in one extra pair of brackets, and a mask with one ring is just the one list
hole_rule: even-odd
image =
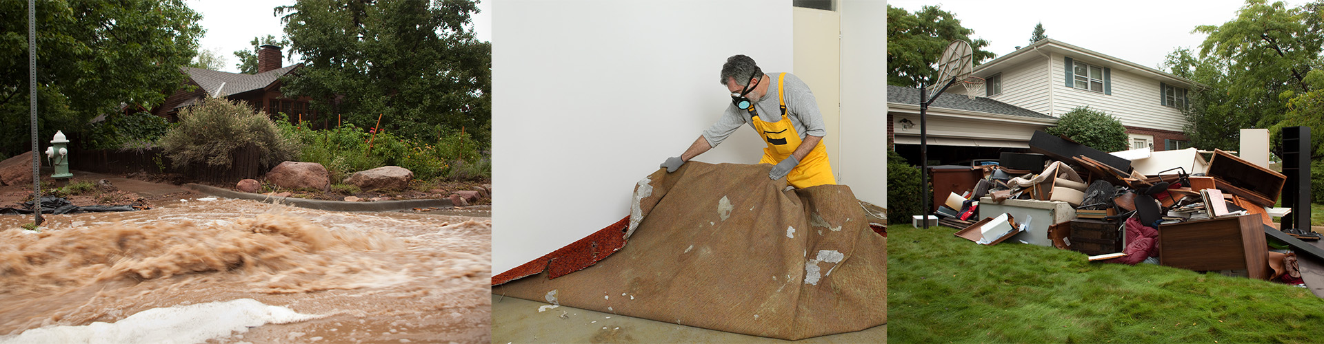
[[(928, 111), (929, 160), (959, 163), (1023, 152), (1035, 130), (1088, 106), (1121, 120), (1131, 148), (1186, 147), (1186, 90), (1196, 82), (1057, 40), (974, 67), (984, 91), (952, 86)], [(888, 138), (903, 156), (919, 156), (919, 89), (888, 86)], [(894, 97), (895, 95), (895, 97)]]

